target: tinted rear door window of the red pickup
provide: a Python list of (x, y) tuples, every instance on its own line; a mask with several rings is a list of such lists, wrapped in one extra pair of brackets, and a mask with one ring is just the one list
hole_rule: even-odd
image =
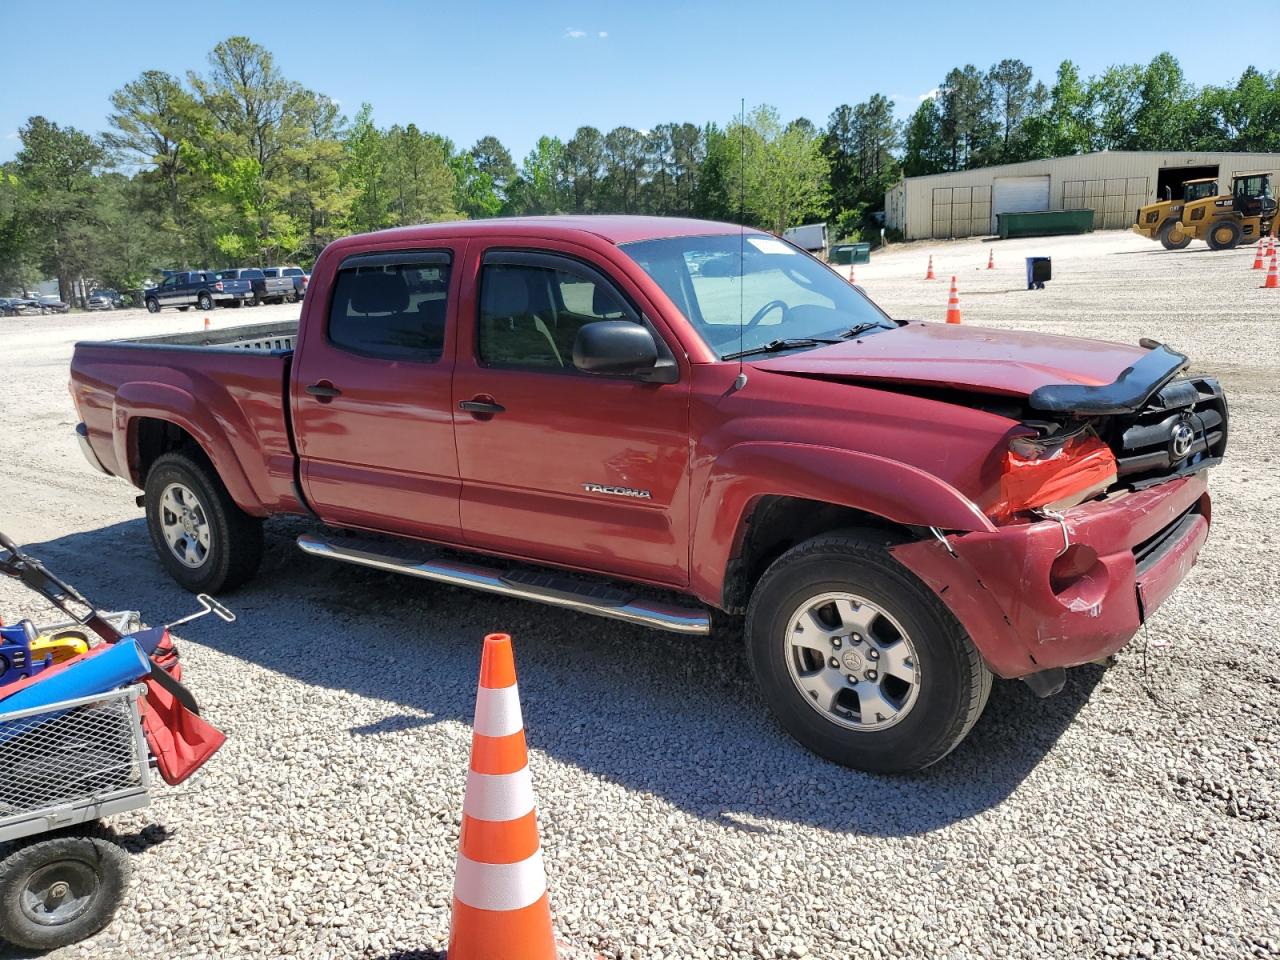
[(449, 270), (449, 255), (435, 251), (348, 259), (333, 288), (329, 342), (371, 357), (439, 360)]

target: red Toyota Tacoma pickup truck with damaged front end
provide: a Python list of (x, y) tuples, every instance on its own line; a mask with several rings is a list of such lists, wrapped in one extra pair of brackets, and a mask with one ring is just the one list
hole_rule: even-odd
[(787, 731), (911, 771), (992, 676), (1056, 692), (1187, 575), (1228, 411), (1185, 367), (892, 320), (737, 227), (534, 218), (337, 241), (298, 324), (81, 343), (72, 392), (188, 589), (251, 577), (293, 513), (334, 561), (684, 634), (745, 616)]

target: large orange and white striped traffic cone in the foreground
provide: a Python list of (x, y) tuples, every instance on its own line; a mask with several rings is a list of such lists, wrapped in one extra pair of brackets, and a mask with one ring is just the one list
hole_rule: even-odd
[(453, 881), (449, 960), (556, 960), (516, 660), (484, 639)]

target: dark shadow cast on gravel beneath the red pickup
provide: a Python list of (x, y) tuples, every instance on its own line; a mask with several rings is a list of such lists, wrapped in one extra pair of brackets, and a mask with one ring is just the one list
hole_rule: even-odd
[[(271, 521), (259, 577), (223, 598), (238, 621), (198, 621), (180, 637), (393, 704), (353, 736), (419, 730), (429, 741), (438, 721), (470, 724), (480, 641), (511, 632), (532, 748), (744, 831), (787, 820), (911, 836), (974, 817), (1036, 768), (1102, 676), (1098, 667), (1071, 671), (1047, 700), (997, 682), (951, 756), (914, 777), (877, 777), (820, 760), (782, 733), (733, 637), (685, 639), (325, 562), (294, 548), (306, 529)], [(155, 559), (142, 520), (27, 547), (100, 607), (140, 609), (151, 623), (192, 609)], [(189, 680), (198, 696), (200, 677)]]

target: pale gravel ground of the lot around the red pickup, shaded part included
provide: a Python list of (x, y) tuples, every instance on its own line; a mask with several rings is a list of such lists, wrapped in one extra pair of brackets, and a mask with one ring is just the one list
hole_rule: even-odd
[[(987, 252), (998, 269), (987, 271)], [(933, 253), (943, 278), (924, 283)], [(1021, 257), (1053, 256), (1028, 292)], [(116, 820), (136, 879), (60, 960), (436, 957), (480, 637), (516, 637), (559, 934), (605, 957), (1280, 955), (1280, 293), (1251, 252), (1130, 234), (905, 244), (858, 268), (891, 312), (1164, 339), (1217, 374), (1229, 460), (1199, 566), (1103, 671), (1037, 700), (997, 684), (911, 778), (790, 742), (736, 644), (646, 632), (303, 557), (274, 521), (232, 626), (183, 628), (229, 733), (197, 785)], [(218, 325), (285, 317), (296, 307)], [(193, 329), (165, 312), (0, 320), (0, 529), (105, 607), (191, 609), (133, 492), (72, 439), (72, 344)], [(0, 611), (31, 609), (12, 581)]]

